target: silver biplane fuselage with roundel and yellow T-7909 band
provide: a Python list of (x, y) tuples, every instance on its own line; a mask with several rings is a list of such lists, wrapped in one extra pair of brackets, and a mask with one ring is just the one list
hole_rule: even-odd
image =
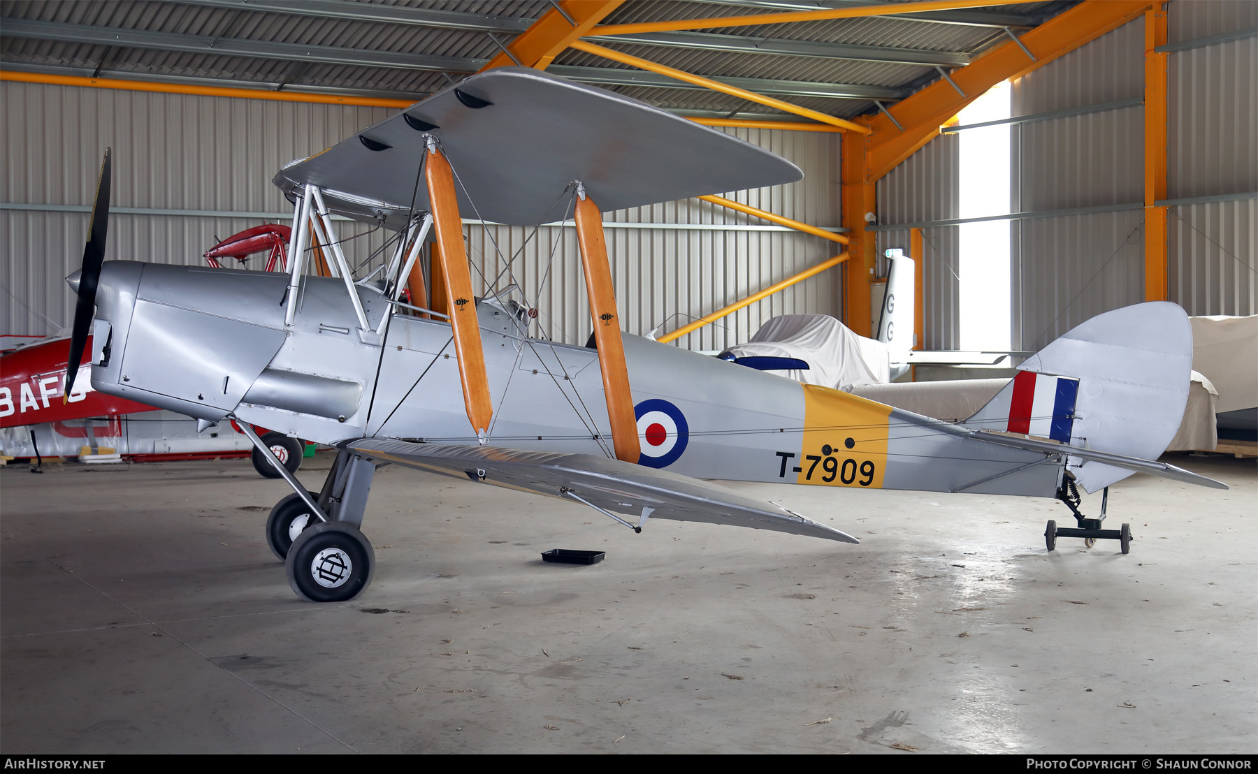
[[(322, 444), (381, 436), (477, 444), (450, 325), (391, 314), (360, 330), (342, 280), (109, 261), (97, 293), (96, 390), (198, 418), (239, 418)], [(372, 329), (390, 308), (356, 285)], [(478, 318), (493, 402), (488, 444), (610, 454), (599, 353), (527, 334), (512, 303)], [(623, 334), (639, 464), (701, 479), (1053, 496), (1062, 465), (825, 387)], [(1037, 464), (1039, 461), (1039, 464)], [(1019, 470), (1020, 469), (1020, 470)], [(984, 479), (990, 479), (984, 481)]]

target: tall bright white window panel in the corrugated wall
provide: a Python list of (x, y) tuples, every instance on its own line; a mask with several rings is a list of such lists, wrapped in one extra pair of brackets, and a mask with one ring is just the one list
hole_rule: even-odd
[[(959, 114), (960, 124), (1009, 118), (1008, 82)], [(960, 217), (1009, 212), (1009, 124), (957, 132)], [(961, 349), (1000, 351), (1010, 343), (1009, 221), (962, 224), (960, 255)]]

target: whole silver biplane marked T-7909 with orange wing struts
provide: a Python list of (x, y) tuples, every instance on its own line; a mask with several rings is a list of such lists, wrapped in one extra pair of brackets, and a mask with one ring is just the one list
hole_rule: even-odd
[[(267, 540), (293, 591), (316, 602), (352, 598), (371, 580), (360, 526), (382, 464), (571, 500), (639, 533), (679, 519), (847, 543), (858, 540), (703, 479), (1059, 498), (1081, 521), (1078, 486), (1096, 491), (1132, 471), (1223, 488), (1147, 459), (1186, 400), (1191, 333), (1174, 304), (1089, 320), (960, 425), (621, 330), (601, 211), (800, 177), (762, 148), (648, 104), (501, 68), (287, 165), (274, 182), (294, 205), (288, 271), (220, 271), (102, 265), (107, 152), (83, 268), (68, 279), (78, 293), (69, 362), (92, 333), (101, 392), (203, 428), (238, 420), (268, 457), (252, 425), (337, 447), (317, 493), (272, 459), (293, 494), (272, 510)], [(530, 335), (530, 309), (507, 293), (476, 298), (463, 243), (460, 212), (533, 225), (555, 220), (565, 192), (591, 347)], [(395, 234), (382, 270), (353, 276), (332, 215)], [(428, 309), (421, 288), (429, 241), (448, 314)], [(307, 273), (312, 244), (331, 248), (333, 276)], [(1055, 534), (1120, 538), (1126, 552), (1126, 525), (1081, 526)]]

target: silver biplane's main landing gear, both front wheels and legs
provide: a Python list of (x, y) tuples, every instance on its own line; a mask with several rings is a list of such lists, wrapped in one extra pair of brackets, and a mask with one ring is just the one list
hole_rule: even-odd
[[(240, 423), (245, 427), (245, 423)], [(252, 428), (250, 428), (252, 430)], [(267, 545), (284, 560), (288, 586), (311, 602), (345, 602), (371, 584), (376, 554), (359, 531), (376, 465), (341, 450), (316, 494), (303, 488), (267, 445), (250, 436), (254, 447), (269, 456), (293, 494), (276, 503), (267, 516)]]

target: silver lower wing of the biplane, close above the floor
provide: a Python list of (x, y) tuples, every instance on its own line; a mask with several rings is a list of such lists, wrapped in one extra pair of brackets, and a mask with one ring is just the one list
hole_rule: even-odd
[(508, 489), (584, 501), (624, 514), (639, 526), (649, 515), (653, 519), (733, 524), (859, 543), (847, 533), (805, 519), (780, 505), (752, 500), (698, 479), (620, 460), (387, 439), (361, 439), (346, 447), (381, 462), (398, 462)]

